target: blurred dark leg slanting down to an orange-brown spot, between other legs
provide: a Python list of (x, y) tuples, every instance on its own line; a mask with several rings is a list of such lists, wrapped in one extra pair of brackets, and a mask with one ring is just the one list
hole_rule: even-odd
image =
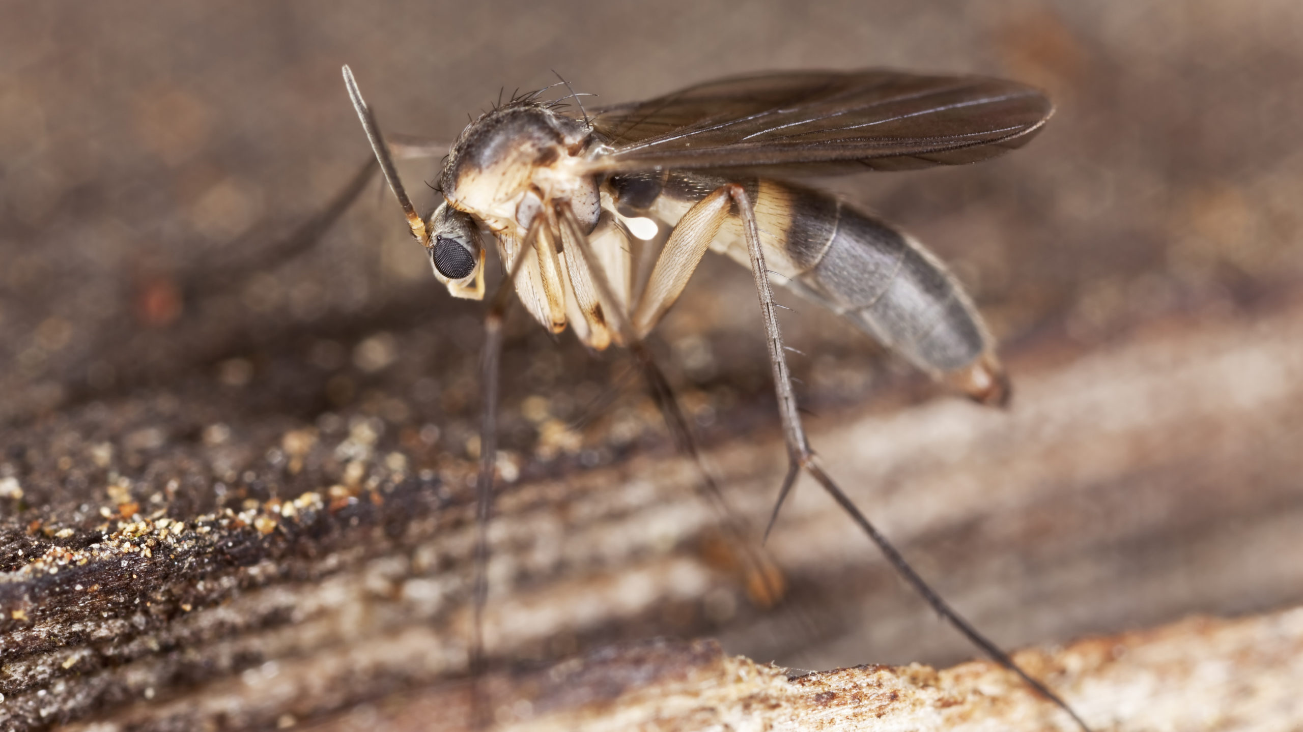
[[(722, 201), (727, 203), (727, 198), (723, 198)], [(721, 218), (728, 214), (727, 204), (722, 206), (721, 210)], [(724, 499), (723, 491), (719, 488), (719, 483), (715, 481), (713, 472), (706, 465), (705, 456), (697, 447), (697, 442), (692, 435), (688, 419), (679, 408), (679, 401), (674, 397), (670, 382), (665, 378), (659, 366), (657, 366), (652, 352), (642, 343), (641, 337), (637, 337), (633, 324), (629, 322), (624, 309), (620, 307), (619, 301), (615, 298), (615, 290), (612, 289), (611, 281), (606, 275), (606, 270), (602, 267), (601, 260), (593, 251), (593, 247), (588, 241), (588, 236), (584, 234), (575, 212), (569, 210), (569, 206), (562, 203), (558, 206), (558, 215), (571, 234), (571, 240), (568, 241), (575, 244), (573, 249), (579, 250), (585, 268), (592, 276), (593, 287), (597, 290), (597, 296), (602, 302), (603, 310), (610, 313), (607, 320), (615, 326), (615, 332), (620, 335), (620, 339), (624, 341), (625, 346), (628, 346), (629, 352), (635, 357), (635, 361), (637, 361), (641, 367), (642, 374), (648, 380), (648, 387), (652, 391), (652, 399), (661, 410), (666, 427), (668, 427), (670, 435), (674, 439), (675, 448), (691, 457), (697, 465), (697, 470), (702, 475), (702, 482), (698, 485), (700, 492), (715, 513), (723, 518), (722, 525), (728, 533), (732, 543), (737, 547), (743, 547), (743, 561), (747, 564), (745, 576), (748, 595), (753, 602), (765, 607), (777, 603), (784, 591), (782, 574), (778, 568), (774, 567), (773, 561), (770, 561), (761, 551), (754, 548), (752, 543), (747, 541), (748, 530), (745, 521), (732, 509), (732, 507), (728, 505), (728, 501)], [(718, 231), (718, 228), (719, 224), (717, 223), (714, 228), (710, 229), (711, 238), (714, 237), (713, 232)], [(706, 240), (706, 242), (709, 244), (709, 240)], [(692, 241), (685, 241), (683, 245), (696, 246)], [(691, 274), (691, 270), (688, 274)], [(687, 281), (685, 277), (684, 281)]]

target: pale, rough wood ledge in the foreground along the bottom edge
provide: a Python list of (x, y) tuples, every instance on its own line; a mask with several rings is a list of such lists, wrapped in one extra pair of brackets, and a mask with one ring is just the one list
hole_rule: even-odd
[[(1018, 660), (1050, 679), (1095, 729), (1293, 729), (1303, 720), (1303, 611), (1191, 619)], [(465, 685), (309, 727), (455, 729)], [(986, 662), (792, 672), (711, 642), (648, 642), (486, 680), (511, 699), (498, 729), (1075, 729)]]

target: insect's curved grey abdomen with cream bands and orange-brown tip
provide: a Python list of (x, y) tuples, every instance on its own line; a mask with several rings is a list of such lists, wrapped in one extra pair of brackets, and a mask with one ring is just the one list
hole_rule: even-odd
[[(638, 206), (674, 224), (726, 178), (671, 172), (659, 194)], [(644, 181), (644, 184), (653, 181)], [(981, 317), (959, 283), (908, 234), (834, 197), (799, 185), (752, 178), (761, 244), (774, 281), (847, 318), (916, 366), (956, 383), (984, 402), (1002, 402), (1007, 384)], [(649, 190), (644, 189), (644, 195)], [(624, 203), (622, 201), (622, 203)], [(749, 267), (736, 215), (710, 247)]]

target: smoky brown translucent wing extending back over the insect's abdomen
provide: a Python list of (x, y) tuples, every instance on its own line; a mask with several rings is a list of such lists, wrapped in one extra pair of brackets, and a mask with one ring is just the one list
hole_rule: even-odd
[(975, 163), (1024, 145), (1054, 107), (1011, 81), (893, 70), (779, 72), (599, 109), (611, 151), (593, 172), (762, 169), (782, 175)]

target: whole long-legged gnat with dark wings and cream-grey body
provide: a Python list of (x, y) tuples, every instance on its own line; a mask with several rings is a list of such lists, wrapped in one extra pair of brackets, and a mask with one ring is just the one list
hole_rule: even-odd
[[(593, 349), (623, 345), (640, 354), (675, 431), (681, 415), (642, 340), (709, 249), (748, 267), (756, 281), (790, 457), (769, 526), (807, 472), (938, 613), (1087, 729), (939, 598), (822, 468), (801, 426), (771, 290), (773, 280), (972, 399), (1003, 404), (1009, 383), (992, 337), (946, 267), (895, 227), (790, 178), (993, 158), (1024, 145), (1050, 117), (1053, 106), (1040, 91), (982, 77), (784, 72), (706, 82), (592, 116), (582, 104), (580, 115), (571, 115), (541, 102), (539, 92), (526, 94), (463, 130), (439, 176), (443, 202), (422, 218), (348, 66), (344, 81), (435, 279), (453, 297), (485, 298), (482, 232), (506, 270), (490, 300), (482, 361), (477, 619), (485, 598), (500, 331), (511, 289), (551, 332), (569, 327)], [(423, 152), (410, 143), (400, 151)], [(632, 251), (648, 228), (670, 233), (650, 274), (640, 276)], [(694, 449), (691, 443), (688, 449)], [(478, 625), (474, 649), (478, 654)]]

